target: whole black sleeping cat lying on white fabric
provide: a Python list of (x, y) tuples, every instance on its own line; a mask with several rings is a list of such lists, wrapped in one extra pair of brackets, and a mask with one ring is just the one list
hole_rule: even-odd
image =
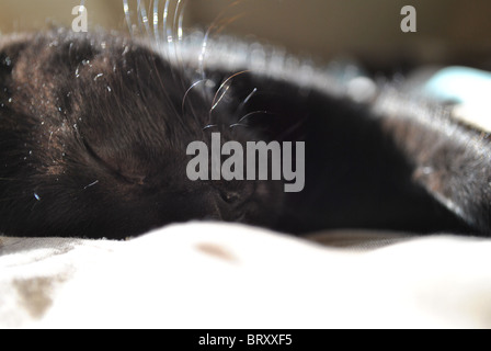
[[(172, 56), (105, 33), (2, 37), (0, 231), (124, 238), (201, 219), (489, 233), (486, 135), (390, 88), (355, 102), (344, 82), (258, 44), (208, 44), (204, 57), (203, 45)], [(212, 133), (305, 141), (305, 189), (191, 181), (186, 148)]]

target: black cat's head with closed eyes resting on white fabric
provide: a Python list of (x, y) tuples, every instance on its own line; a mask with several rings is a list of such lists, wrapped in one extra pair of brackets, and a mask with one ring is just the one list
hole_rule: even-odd
[(212, 152), (213, 133), (241, 145), (259, 137), (237, 123), (250, 91), (231, 76), (197, 79), (122, 36), (3, 38), (0, 230), (124, 237), (190, 219), (272, 224), (279, 182), (186, 173), (191, 143)]

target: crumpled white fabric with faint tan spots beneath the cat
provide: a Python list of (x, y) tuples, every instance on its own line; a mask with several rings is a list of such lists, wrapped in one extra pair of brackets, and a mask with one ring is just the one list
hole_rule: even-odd
[(0, 327), (490, 328), (490, 267), (491, 240), (454, 236), (365, 251), (203, 223), (0, 237)]

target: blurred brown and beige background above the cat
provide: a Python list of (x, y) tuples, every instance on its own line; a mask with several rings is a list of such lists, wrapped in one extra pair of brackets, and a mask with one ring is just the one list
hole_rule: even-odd
[[(136, 0), (128, 0), (136, 9)], [(176, 0), (173, 0), (175, 2)], [(147, 0), (149, 8), (152, 1)], [(164, 1), (161, 1), (163, 9)], [(0, 31), (70, 26), (80, 0), (0, 0)], [(89, 30), (128, 31), (122, 0), (87, 0)], [(416, 33), (402, 33), (403, 5), (416, 9)], [(353, 55), (375, 69), (460, 64), (491, 69), (489, 0), (187, 0), (186, 26), (208, 26), (329, 60)]]

